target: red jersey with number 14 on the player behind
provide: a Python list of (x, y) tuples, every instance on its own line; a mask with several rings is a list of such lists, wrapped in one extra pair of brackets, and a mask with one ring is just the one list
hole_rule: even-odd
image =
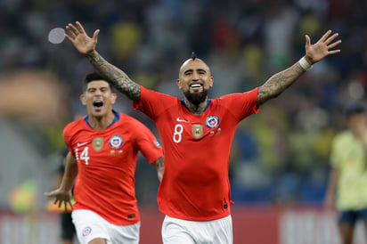
[(151, 131), (135, 118), (115, 112), (109, 127), (96, 131), (88, 118), (69, 123), (63, 131), (77, 159), (73, 209), (88, 209), (111, 224), (140, 220), (135, 198), (135, 166), (139, 150), (150, 162), (162, 155)]

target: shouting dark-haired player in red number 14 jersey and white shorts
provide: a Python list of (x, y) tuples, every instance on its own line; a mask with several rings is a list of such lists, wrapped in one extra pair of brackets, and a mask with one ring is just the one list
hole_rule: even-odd
[(159, 181), (163, 175), (159, 142), (141, 122), (112, 110), (116, 99), (100, 75), (86, 76), (80, 100), (87, 115), (65, 126), (65, 173), (61, 186), (45, 193), (66, 208), (75, 182), (71, 215), (80, 243), (139, 243), (134, 177), (138, 152), (157, 168)]

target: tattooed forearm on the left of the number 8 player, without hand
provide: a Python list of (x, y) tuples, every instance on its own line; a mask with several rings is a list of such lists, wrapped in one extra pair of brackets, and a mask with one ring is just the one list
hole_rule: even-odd
[(126, 94), (131, 100), (140, 102), (140, 85), (132, 81), (124, 71), (104, 60), (97, 52), (87, 54), (86, 58), (110, 85), (115, 87), (120, 93)]

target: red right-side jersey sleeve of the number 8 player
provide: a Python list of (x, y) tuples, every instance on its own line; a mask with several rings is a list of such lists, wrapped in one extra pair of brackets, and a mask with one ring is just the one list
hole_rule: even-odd
[(257, 91), (258, 87), (243, 94), (224, 95), (219, 100), (222, 100), (224, 106), (232, 112), (238, 121), (241, 121), (243, 118), (258, 112)]

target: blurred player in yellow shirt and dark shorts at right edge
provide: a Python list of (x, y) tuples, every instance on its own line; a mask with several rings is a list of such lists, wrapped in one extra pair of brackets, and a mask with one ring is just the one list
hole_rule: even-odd
[(347, 129), (334, 137), (330, 150), (325, 207), (334, 207), (336, 200), (341, 243), (352, 244), (358, 221), (367, 231), (367, 114), (362, 103), (352, 102), (345, 117)]

